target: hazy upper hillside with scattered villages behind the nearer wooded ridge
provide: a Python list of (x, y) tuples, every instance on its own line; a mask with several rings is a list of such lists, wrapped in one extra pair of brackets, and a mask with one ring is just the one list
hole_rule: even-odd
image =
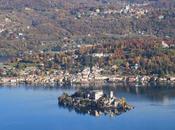
[(175, 38), (173, 0), (0, 0), (0, 53)]

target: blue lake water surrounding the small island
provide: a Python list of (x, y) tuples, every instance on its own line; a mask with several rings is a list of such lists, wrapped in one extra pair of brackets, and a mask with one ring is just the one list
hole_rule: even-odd
[(0, 130), (175, 130), (174, 88), (116, 89), (115, 95), (135, 106), (116, 117), (94, 117), (60, 108), (57, 97), (74, 91), (0, 87)]

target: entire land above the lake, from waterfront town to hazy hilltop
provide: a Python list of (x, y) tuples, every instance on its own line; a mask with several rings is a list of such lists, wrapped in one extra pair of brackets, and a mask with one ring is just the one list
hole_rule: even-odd
[(0, 1), (0, 84), (175, 83), (174, 2), (40, 2)]

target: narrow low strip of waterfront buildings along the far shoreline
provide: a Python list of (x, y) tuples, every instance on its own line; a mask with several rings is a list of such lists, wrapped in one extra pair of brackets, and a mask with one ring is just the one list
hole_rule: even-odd
[[(151, 76), (142, 76), (142, 80), (138, 80), (138, 76), (125, 76), (120, 77), (120, 80), (109, 80), (110, 77), (107, 79), (98, 79), (98, 80), (80, 80), (77, 82), (77, 80), (60, 80), (58, 77), (54, 78), (48, 78), (48, 76), (43, 77), (41, 79), (41, 76), (28, 76), (27, 77), (0, 77), (0, 85), (47, 85), (47, 86), (75, 86), (78, 88), (82, 87), (90, 87), (94, 86), (95, 88), (99, 88), (101, 86), (110, 85), (110, 86), (156, 86), (156, 85), (172, 85), (175, 86), (175, 77), (168, 77), (168, 78), (158, 78), (158, 77), (151, 77)], [(147, 80), (143, 80), (147, 77)], [(149, 78), (148, 78), (149, 77)], [(64, 77), (65, 79), (65, 77)], [(132, 80), (131, 80), (132, 79)], [(135, 79), (135, 80), (134, 80)]]

